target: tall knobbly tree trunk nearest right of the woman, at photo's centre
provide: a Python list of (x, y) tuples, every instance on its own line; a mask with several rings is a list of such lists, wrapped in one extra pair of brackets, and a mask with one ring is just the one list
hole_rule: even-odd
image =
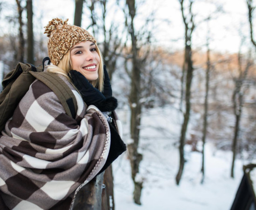
[(129, 103), (131, 109), (131, 121), (130, 121), (130, 131), (131, 139), (133, 142), (128, 145), (128, 155), (130, 159), (132, 179), (134, 182), (134, 202), (135, 204), (141, 204), (141, 190), (142, 183), (141, 179), (136, 178), (139, 173), (139, 164), (142, 160), (142, 154), (138, 153), (139, 145), (139, 135), (140, 135), (140, 125), (141, 125), (141, 66), (140, 60), (138, 58), (138, 47), (137, 38), (134, 31), (134, 17), (135, 17), (135, 0), (126, 0), (128, 5), (130, 25), (129, 33), (132, 41), (132, 76), (131, 76), (131, 92), (129, 96)]

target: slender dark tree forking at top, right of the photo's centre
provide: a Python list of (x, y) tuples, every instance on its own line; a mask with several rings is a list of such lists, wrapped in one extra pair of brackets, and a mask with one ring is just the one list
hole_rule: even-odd
[(184, 119), (182, 123), (182, 129), (180, 134), (180, 146), (179, 146), (179, 152), (180, 152), (180, 166), (178, 173), (176, 175), (176, 184), (179, 185), (182, 172), (184, 168), (184, 145), (185, 145), (185, 138), (186, 138), (186, 132), (187, 127), (189, 123), (189, 116), (190, 116), (190, 89), (191, 89), (191, 83), (193, 78), (193, 62), (192, 62), (192, 49), (191, 49), (191, 38), (192, 33), (195, 29), (195, 23), (194, 23), (194, 14), (192, 13), (192, 5), (193, 0), (189, 0), (189, 14), (186, 16), (184, 13), (184, 0), (179, 0), (181, 4), (181, 12), (182, 12), (182, 18), (185, 25), (185, 73), (186, 73), (186, 90), (185, 90), (185, 102), (186, 102), (186, 108), (185, 113), (183, 114)]

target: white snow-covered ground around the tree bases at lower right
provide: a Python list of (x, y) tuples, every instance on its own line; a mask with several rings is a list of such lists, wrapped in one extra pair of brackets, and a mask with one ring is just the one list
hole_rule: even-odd
[[(229, 210), (243, 176), (246, 160), (236, 159), (235, 178), (230, 178), (232, 153), (216, 150), (210, 141), (205, 148), (205, 179), (201, 184), (202, 153), (186, 145), (186, 164), (179, 186), (178, 137), (181, 116), (171, 108), (143, 113), (140, 177), (144, 180), (141, 205), (133, 203), (133, 182), (127, 153), (113, 163), (116, 210)], [(128, 115), (119, 111), (124, 141), (128, 141)], [(190, 123), (193, 124), (193, 121)], [(191, 131), (188, 131), (188, 133)]]

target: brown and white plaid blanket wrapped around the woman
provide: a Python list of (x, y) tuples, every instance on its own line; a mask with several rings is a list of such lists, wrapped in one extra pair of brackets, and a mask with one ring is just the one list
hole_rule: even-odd
[(0, 135), (0, 200), (11, 210), (72, 208), (75, 191), (106, 162), (108, 122), (69, 86), (78, 104), (75, 119), (36, 80)]

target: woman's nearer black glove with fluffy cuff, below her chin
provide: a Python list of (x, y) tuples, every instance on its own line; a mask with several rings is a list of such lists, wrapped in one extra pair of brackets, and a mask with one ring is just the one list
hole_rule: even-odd
[[(94, 105), (101, 112), (114, 111), (117, 107), (117, 100), (114, 97), (106, 98), (97, 88), (94, 88), (91, 83), (79, 71), (71, 70), (70, 78), (74, 86), (80, 92), (83, 101), (89, 106)], [(109, 83), (110, 85), (110, 83)], [(111, 89), (111, 86), (110, 86)], [(111, 90), (112, 92), (112, 90)], [(111, 94), (112, 95), (112, 94)]]

